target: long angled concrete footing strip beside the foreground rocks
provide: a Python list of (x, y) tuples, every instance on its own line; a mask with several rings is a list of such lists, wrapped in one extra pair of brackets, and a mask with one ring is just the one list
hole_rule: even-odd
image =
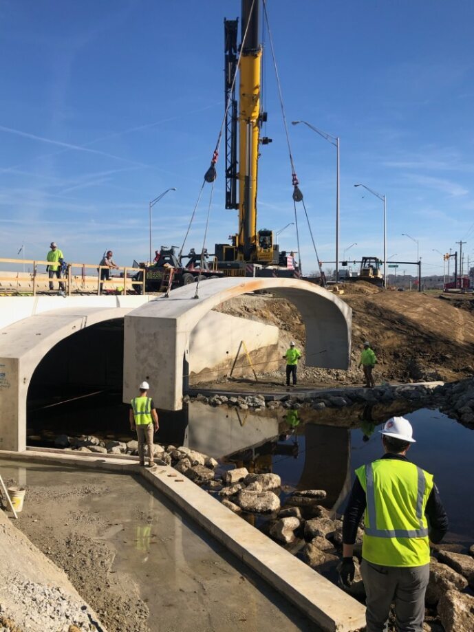
[(365, 607), (263, 535), (174, 468), (140, 468), (130, 461), (105, 455), (17, 453), (0, 450), (0, 459), (54, 462), (142, 475), (171, 499), (206, 532), (222, 543), (327, 632), (354, 632), (365, 626)]

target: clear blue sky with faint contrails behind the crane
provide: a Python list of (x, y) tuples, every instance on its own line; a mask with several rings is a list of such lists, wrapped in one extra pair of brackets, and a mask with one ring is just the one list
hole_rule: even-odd
[[(224, 111), (223, 19), (239, 0), (0, 0), (0, 256), (147, 259), (180, 245)], [(341, 259), (383, 254), (442, 274), (456, 241), (474, 258), (474, 3), (268, 0), (288, 121), (341, 137)], [(259, 228), (294, 221), (288, 149), (266, 36), (264, 101), (273, 139), (259, 163)], [(336, 150), (302, 125), (290, 140), (322, 261), (334, 261)], [(237, 230), (217, 164), (206, 245)], [(188, 239), (200, 249), (204, 189)], [(316, 263), (301, 222), (305, 272)], [(294, 226), (282, 248), (296, 249)], [(413, 270), (414, 274), (414, 270)]]

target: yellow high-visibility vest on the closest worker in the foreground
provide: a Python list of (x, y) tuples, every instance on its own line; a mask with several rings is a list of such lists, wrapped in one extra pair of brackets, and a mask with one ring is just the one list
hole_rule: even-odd
[(365, 490), (362, 556), (381, 566), (429, 563), (424, 508), (433, 476), (409, 461), (379, 459), (356, 470)]

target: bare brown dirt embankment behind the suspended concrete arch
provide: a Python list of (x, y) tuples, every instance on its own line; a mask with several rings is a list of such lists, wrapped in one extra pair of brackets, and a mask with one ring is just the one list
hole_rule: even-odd
[[(302, 384), (356, 384), (360, 349), (369, 340), (376, 352), (376, 380), (460, 380), (474, 373), (474, 315), (471, 301), (440, 300), (418, 292), (386, 292), (367, 283), (345, 287), (340, 296), (352, 307), (352, 368), (335, 371), (299, 368)], [(248, 294), (234, 298), (220, 312), (259, 320), (280, 329), (282, 355), (290, 340), (304, 349), (305, 327), (297, 309), (270, 295)], [(256, 367), (265, 373), (264, 367)], [(277, 380), (280, 371), (271, 375)]]

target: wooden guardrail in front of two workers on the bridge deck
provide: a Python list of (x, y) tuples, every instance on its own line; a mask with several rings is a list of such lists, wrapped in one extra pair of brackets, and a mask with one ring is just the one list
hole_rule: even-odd
[[(67, 296), (71, 296), (71, 294), (76, 292), (86, 292), (86, 285), (94, 285), (95, 290), (94, 294), (100, 294), (107, 292), (110, 287), (114, 287), (116, 291), (121, 294), (127, 294), (128, 292), (137, 292), (138, 294), (145, 294), (145, 275), (142, 274), (142, 279), (140, 281), (136, 281), (132, 276), (129, 276), (130, 273), (134, 272), (143, 272), (141, 268), (129, 268), (127, 266), (119, 266), (118, 268), (114, 268), (114, 270), (120, 271), (120, 276), (110, 276), (109, 279), (100, 279), (102, 270), (111, 270), (107, 265), (94, 265), (93, 263), (67, 263), (65, 274), (61, 277), (57, 277), (56, 275), (50, 279), (49, 274), (47, 272), (39, 272), (38, 266), (43, 265), (51, 265), (51, 261), (39, 261), (37, 259), (7, 259), (4, 257), (0, 257), (0, 263), (10, 263), (13, 265), (32, 265), (31, 272), (10, 272), (9, 276), (6, 276), (6, 271), (3, 273), (0, 271), (0, 282), (10, 281), (12, 285), (17, 282), (17, 286), (20, 281), (25, 281), (30, 279), (30, 283), (32, 283), (32, 294), (36, 296), (38, 290), (39, 283), (61, 283), (64, 285), (64, 292)], [(53, 262), (54, 263), (54, 262)], [(74, 274), (73, 271), (75, 269), (79, 269), (79, 274)], [(96, 270), (97, 274), (87, 274), (87, 270)], [(21, 276), (19, 276), (21, 274)], [(73, 284), (76, 286), (76, 290), (74, 290)], [(82, 287), (79, 287), (80, 284)], [(1, 294), (1, 292), (0, 292)]]

